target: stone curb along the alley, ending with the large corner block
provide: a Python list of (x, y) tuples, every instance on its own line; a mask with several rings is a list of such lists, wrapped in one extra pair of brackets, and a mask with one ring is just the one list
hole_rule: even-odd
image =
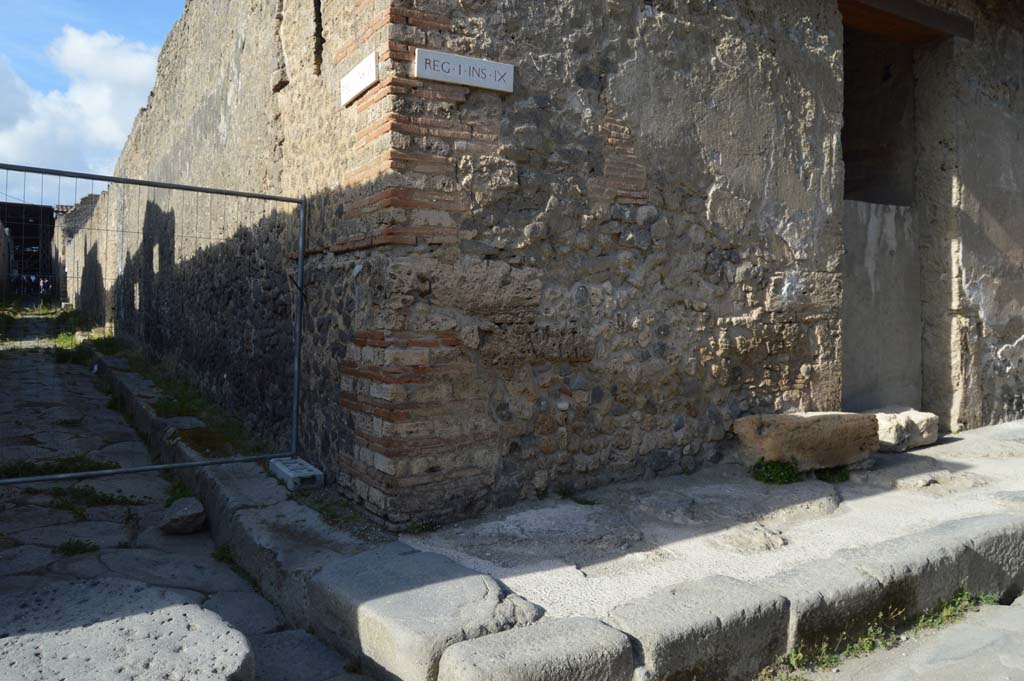
[[(116, 400), (161, 461), (204, 461), (146, 399), (148, 381), (93, 353)], [(400, 542), (369, 544), (328, 525), (257, 464), (177, 471), (210, 534), (289, 624), (360, 658), (375, 676), (434, 681), (445, 648), (536, 622), (543, 610), (486, 574)], [(381, 555), (387, 554), (387, 555)], [(438, 576), (440, 576), (438, 578)], [(339, 670), (339, 673), (342, 670)]]

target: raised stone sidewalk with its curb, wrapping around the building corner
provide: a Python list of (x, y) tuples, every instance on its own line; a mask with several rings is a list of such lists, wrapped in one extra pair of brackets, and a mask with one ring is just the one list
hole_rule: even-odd
[[(98, 363), (165, 461), (201, 458), (152, 384)], [(745, 681), (887, 608), (1024, 589), (1020, 423), (879, 455), (844, 482), (772, 487), (724, 464), (400, 541), (328, 524), (256, 465), (182, 477), (291, 624), (382, 679)]]

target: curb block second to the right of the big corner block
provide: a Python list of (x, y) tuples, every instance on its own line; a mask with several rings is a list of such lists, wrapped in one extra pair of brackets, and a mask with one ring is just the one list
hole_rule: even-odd
[(639, 641), (654, 678), (749, 681), (785, 651), (790, 604), (760, 587), (710, 577), (620, 605), (608, 624)]

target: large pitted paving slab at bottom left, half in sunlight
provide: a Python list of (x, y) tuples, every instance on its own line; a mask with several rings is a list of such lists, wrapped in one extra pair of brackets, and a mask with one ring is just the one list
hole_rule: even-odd
[(2, 594), (0, 632), (10, 681), (255, 677), (245, 636), (209, 610), (140, 582), (68, 582)]

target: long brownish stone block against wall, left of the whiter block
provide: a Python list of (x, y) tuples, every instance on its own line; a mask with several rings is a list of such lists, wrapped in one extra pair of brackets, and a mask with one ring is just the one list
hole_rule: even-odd
[(748, 464), (764, 459), (815, 470), (855, 464), (879, 450), (873, 414), (756, 414), (736, 419), (733, 431)]

